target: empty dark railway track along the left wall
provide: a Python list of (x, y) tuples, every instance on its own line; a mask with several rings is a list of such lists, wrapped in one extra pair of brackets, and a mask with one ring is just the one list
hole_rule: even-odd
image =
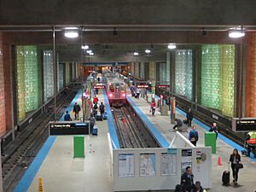
[[(62, 108), (66, 107), (75, 96), (76, 92), (71, 92), (67, 96), (61, 97), (57, 103), (57, 118), (60, 119), (63, 112)], [(43, 119), (43, 120), (42, 120)], [(26, 172), (27, 167), (38, 154), (39, 149), (49, 136), (48, 123), (54, 119), (53, 109), (48, 113), (42, 113), (34, 122), (27, 134), (26, 139), (20, 143), (14, 153), (9, 154), (7, 160), (3, 161), (3, 191), (11, 192), (15, 189), (16, 184)], [(26, 130), (24, 130), (26, 132)], [(17, 139), (19, 139), (17, 137)]]

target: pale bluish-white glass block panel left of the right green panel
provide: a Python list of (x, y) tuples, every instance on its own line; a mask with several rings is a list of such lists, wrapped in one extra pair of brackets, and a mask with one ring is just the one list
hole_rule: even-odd
[(175, 92), (192, 99), (192, 49), (175, 51)]

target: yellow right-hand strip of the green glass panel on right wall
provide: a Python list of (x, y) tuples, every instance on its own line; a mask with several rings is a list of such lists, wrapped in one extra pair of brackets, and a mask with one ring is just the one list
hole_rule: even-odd
[(235, 45), (222, 45), (222, 113), (232, 117), (235, 94)]

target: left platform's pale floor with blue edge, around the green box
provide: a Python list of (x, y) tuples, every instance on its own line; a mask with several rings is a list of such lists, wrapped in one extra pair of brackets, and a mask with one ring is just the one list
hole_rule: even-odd
[[(73, 118), (73, 104), (81, 105), (81, 94), (66, 109)], [(104, 102), (103, 95), (98, 95)], [(81, 114), (80, 114), (81, 116)], [(98, 136), (84, 136), (84, 158), (73, 158), (73, 136), (49, 137), (32, 165), (15, 188), (15, 192), (38, 191), (38, 177), (43, 178), (45, 192), (111, 192), (111, 154), (108, 142), (108, 121), (96, 121)]]

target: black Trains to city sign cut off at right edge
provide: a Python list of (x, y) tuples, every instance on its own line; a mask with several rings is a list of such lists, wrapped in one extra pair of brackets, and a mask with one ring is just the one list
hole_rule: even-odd
[(256, 131), (256, 118), (233, 118), (233, 131)]

